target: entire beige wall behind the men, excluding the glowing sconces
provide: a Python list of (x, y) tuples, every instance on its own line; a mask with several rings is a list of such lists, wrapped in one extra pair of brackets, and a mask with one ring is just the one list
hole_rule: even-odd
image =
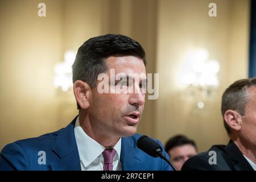
[[(53, 66), (68, 49), (77, 51), (92, 36), (125, 34), (138, 40), (147, 72), (160, 74), (158, 100), (147, 100), (138, 132), (163, 143), (183, 133), (200, 150), (226, 143), (220, 97), (234, 80), (247, 76), (249, 1), (46, 0), (47, 17), (34, 0), (0, 1), (0, 149), (67, 125), (77, 114), (72, 92), (53, 87)], [(205, 109), (191, 109), (177, 75), (186, 52), (205, 47), (220, 61), (220, 87)]]

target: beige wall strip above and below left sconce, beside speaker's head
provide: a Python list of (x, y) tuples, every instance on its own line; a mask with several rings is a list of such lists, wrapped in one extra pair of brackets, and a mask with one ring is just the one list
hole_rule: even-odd
[[(61, 60), (64, 52), (77, 49), (89, 38), (102, 34), (101, 0), (65, 0), (61, 3)], [(57, 121), (62, 127), (68, 125), (78, 114), (73, 91), (55, 94), (58, 101)], [(55, 98), (55, 99), (56, 99)]]

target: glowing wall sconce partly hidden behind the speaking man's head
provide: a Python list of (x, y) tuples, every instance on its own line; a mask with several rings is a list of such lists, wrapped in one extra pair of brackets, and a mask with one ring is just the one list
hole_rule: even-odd
[(54, 67), (54, 86), (56, 88), (61, 88), (64, 92), (73, 87), (72, 64), (74, 63), (75, 58), (75, 52), (66, 51), (64, 54), (64, 61), (56, 64)]

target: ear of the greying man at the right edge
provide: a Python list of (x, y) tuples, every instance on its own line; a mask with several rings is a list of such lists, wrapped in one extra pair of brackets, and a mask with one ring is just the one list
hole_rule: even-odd
[(239, 131), (241, 129), (242, 117), (237, 111), (234, 110), (226, 110), (224, 114), (225, 122), (229, 125), (233, 130)]

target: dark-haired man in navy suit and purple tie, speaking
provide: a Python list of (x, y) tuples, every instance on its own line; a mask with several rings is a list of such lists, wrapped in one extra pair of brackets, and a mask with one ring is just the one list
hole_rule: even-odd
[(87, 40), (72, 65), (79, 116), (55, 133), (7, 144), (0, 169), (171, 170), (164, 160), (137, 147), (145, 64), (143, 48), (127, 36)]

